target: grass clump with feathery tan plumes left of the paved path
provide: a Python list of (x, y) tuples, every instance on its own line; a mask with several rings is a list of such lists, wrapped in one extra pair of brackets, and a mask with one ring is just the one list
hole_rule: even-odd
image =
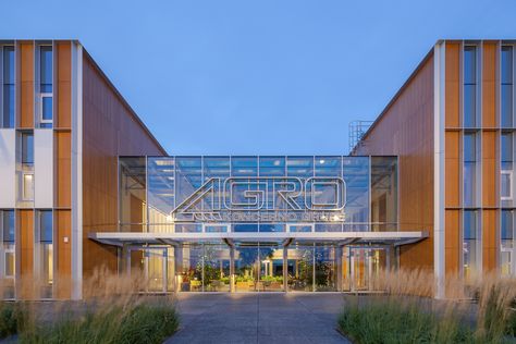
[(83, 300), (16, 302), (8, 308), (23, 315), (14, 324), (21, 343), (161, 343), (179, 327), (175, 298), (140, 294), (145, 284), (137, 271), (119, 275), (102, 267), (85, 279)]

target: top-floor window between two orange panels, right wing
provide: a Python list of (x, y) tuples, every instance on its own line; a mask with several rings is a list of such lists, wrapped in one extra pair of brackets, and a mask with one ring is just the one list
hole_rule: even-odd
[(464, 48), (464, 126), (477, 126), (477, 47)]

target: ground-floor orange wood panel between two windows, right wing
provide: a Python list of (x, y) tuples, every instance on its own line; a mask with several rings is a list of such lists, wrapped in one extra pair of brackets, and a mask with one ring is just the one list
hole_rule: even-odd
[(499, 211), (484, 209), (482, 211), (482, 271), (491, 272), (497, 268), (497, 229)]

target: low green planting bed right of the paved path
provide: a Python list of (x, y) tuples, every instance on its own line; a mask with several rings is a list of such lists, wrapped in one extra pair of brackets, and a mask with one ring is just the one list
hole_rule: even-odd
[(515, 281), (484, 281), (471, 299), (403, 294), (347, 296), (339, 330), (357, 344), (516, 343)]

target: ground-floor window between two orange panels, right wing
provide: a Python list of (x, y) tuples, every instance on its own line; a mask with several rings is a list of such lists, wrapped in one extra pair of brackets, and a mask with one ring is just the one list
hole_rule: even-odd
[(463, 274), (472, 278), (479, 272), (481, 257), (480, 235), (478, 229), (477, 210), (464, 211), (463, 226)]

